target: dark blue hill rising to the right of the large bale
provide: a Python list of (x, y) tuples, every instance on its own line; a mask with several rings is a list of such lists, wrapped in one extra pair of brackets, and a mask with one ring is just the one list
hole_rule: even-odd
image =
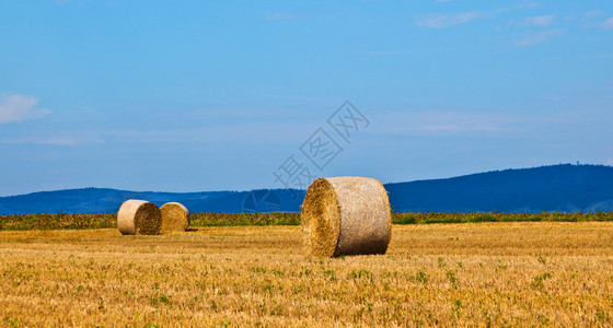
[(562, 164), (389, 184), (397, 212), (613, 211), (613, 167)]

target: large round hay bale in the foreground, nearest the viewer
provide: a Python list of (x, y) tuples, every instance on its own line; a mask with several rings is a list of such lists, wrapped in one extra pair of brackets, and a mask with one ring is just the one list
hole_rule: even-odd
[(385, 254), (392, 237), (388, 191), (373, 178), (319, 178), (301, 211), (307, 251), (314, 256)]

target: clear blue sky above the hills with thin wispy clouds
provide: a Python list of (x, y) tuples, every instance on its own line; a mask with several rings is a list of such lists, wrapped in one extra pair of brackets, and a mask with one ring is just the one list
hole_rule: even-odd
[(7, 0), (0, 31), (0, 196), (613, 165), (610, 1)]

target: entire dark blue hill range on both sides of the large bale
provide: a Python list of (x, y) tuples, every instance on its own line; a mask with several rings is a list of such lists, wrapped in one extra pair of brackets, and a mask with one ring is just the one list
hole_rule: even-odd
[[(388, 184), (396, 212), (613, 211), (613, 167), (554, 165)], [(85, 188), (0, 197), (0, 214), (114, 213), (127, 199), (192, 212), (298, 212), (304, 190), (152, 192)]]

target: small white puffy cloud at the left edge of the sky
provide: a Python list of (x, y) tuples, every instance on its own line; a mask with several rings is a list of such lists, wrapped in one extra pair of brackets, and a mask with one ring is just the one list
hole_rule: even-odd
[(37, 108), (38, 99), (19, 94), (3, 94), (0, 98), (0, 124), (41, 118), (51, 113)]

